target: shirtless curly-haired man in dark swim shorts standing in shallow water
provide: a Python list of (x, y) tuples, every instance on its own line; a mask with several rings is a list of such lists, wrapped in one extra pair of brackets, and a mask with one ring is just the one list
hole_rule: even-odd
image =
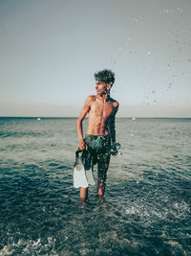
[[(102, 70), (95, 74), (96, 95), (89, 96), (77, 119), (78, 148), (88, 150), (97, 163), (98, 198), (102, 198), (105, 191), (105, 180), (110, 163), (110, 150), (116, 142), (115, 117), (118, 103), (110, 97), (110, 89), (115, 82), (115, 74), (111, 70)], [(88, 128), (83, 138), (82, 122), (88, 115)], [(113, 149), (115, 151), (115, 149)], [(95, 160), (96, 159), (96, 160)], [(86, 198), (86, 188), (80, 188), (80, 199)]]

